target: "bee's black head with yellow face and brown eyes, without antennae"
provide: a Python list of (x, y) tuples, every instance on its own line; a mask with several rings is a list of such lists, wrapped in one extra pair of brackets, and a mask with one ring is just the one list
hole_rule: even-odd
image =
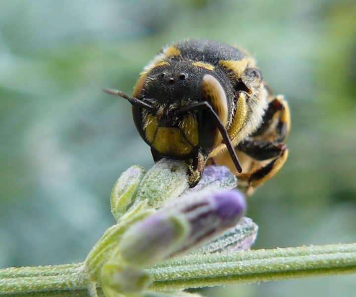
[(206, 101), (224, 126), (231, 121), (231, 84), (221, 82), (209, 64), (167, 61), (149, 71), (145, 80), (140, 97), (155, 111), (134, 106), (133, 114), (136, 127), (156, 154), (189, 159), (200, 149), (209, 153), (221, 143), (210, 114), (194, 109), (181, 112), (182, 108)]

